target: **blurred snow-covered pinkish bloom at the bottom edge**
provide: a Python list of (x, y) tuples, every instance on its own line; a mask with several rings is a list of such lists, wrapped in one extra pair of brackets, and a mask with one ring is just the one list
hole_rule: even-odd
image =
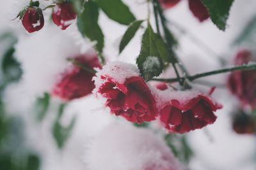
[(147, 129), (109, 125), (92, 140), (84, 157), (90, 170), (180, 170), (163, 139)]

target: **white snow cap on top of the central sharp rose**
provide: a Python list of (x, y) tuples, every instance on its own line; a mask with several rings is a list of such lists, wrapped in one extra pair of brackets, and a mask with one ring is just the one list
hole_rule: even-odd
[(104, 83), (101, 76), (109, 76), (113, 78), (117, 83), (124, 83), (127, 78), (132, 76), (140, 76), (138, 67), (133, 64), (128, 64), (121, 61), (108, 62), (102, 69), (98, 69), (96, 76), (93, 77), (95, 81), (95, 89), (99, 89), (100, 85)]

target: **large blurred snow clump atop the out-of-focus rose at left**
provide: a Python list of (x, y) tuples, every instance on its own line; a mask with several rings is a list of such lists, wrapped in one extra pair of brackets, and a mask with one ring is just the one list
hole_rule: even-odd
[[(52, 89), (60, 74), (72, 66), (68, 57), (80, 55), (81, 46), (55, 25), (19, 38), (15, 56), (22, 66), (22, 83), (31, 94), (41, 95)], [(69, 65), (68, 65), (69, 64)]]

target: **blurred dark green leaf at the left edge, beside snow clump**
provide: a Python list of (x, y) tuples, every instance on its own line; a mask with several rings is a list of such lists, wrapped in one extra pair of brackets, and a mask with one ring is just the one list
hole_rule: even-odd
[(12, 46), (3, 55), (2, 71), (4, 74), (4, 81), (6, 81), (7, 83), (11, 81), (18, 81), (22, 74), (20, 63), (17, 62), (17, 60), (13, 56), (14, 53), (15, 49)]

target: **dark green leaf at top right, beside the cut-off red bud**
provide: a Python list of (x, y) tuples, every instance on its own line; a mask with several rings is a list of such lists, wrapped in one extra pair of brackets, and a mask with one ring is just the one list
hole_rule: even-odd
[(234, 0), (201, 0), (209, 11), (212, 22), (225, 31), (230, 7)]

